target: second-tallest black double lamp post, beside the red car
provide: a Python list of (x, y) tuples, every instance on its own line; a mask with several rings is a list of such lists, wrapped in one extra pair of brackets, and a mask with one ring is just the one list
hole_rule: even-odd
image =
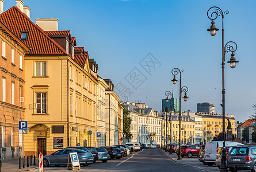
[(178, 68), (173, 68), (173, 70), (171, 70), (171, 74), (173, 74), (173, 84), (176, 84), (178, 80), (176, 80), (176, 75), (178, 75), (179, 73), (179, 153), (178, 153), (178, 160), (181, 160), (181, 93), (185, 92), (185, 95), (183, 97), (184, 101), (188, 100), (188, 96), (186, 95), (186, 92), (189, 91), (188, 87), (184, 86), (181, 88), (181, 72), (183, 72), (182, 70), (179, 70)]

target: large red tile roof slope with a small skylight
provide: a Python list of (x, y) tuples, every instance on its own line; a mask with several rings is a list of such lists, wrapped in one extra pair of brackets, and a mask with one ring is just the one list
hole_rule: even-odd
[(26, 54), (66, 54), (57, 42), (52, 40), (44, 30), (35, 25), (24, 13), (16, 6), (11, 7), (0, 15), (0, 20), (19, 38), (21, 32), (28, 32), (28, 38), (23, 41), (29, 48)]

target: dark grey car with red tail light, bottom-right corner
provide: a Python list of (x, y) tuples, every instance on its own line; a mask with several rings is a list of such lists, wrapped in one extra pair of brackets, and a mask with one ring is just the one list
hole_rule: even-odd
[(226, 166), (231, 172), (238, 170), (256, 171), (256, 146), (244, 145), (232, 147), (227, 155)]

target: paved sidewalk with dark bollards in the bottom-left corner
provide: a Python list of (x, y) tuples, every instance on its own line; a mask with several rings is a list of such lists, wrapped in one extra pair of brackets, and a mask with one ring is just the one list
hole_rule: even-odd
[[(4, 172), (13, 172), (13, 171), (32, 171), (39, 168), (38, 158), (36, 158), (36, 165), (30, 167), (30, 158), (29, 158), (29, 167), (26, 167), (26, 161), (25, 161), (25, 168), (23, 169), (23, 159), (21, 160), (21, 168), (18, 169), (18, 161), (19, 159), (12, 159), (12, 160), (5, 160), (2, 161), (2, 171)], [(34, 163), (34, 159), (32, 159), (32, 165)]]

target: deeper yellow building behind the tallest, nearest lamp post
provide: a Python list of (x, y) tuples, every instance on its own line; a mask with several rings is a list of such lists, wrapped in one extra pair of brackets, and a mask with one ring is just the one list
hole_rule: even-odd
[[(214, 136), (219, 135), (222, 132), (222, 115), (218, 114), (198, 114), (202, 117), (202, 140), (204, 143), (210, 142)], [(228, 120), (230, 120), (232, 134), (235, 134), (235, 118), (234, 115), (226, 115), (225, 128), (227, 131)]]

